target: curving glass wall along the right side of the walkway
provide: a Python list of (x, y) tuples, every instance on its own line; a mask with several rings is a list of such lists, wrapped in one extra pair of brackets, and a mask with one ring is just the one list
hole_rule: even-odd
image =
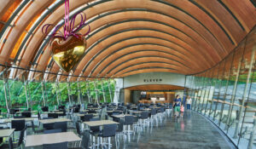
[(217, 66), (186, 77), (192, 109), (208, 117), (236, 146), (256, 148), (256, 29)]

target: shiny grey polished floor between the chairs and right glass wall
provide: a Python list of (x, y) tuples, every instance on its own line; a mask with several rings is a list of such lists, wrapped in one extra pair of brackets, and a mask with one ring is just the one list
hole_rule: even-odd
[[(137, 131), (137, 130), (136, 130)], [(218, 129), (197, 112), (185, 112), (183, 118), (166, 117), (158, 126), (145, 127), (119, 139), (119, 149), (218, 149), (234, 148)]]

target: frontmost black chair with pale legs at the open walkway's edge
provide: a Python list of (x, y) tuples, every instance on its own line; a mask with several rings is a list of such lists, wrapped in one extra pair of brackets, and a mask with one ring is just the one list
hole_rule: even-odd
[[(105, 124), (103, 125), (102, 134), (99, 136), (102, 138), (108, 138), (108, 146), (111, 146), (110, 139), (115, 136), (117, 124)], [(102, 143), (104, 145), (106, 143)], [(109, 147), (108, 147), (109, 148)]]

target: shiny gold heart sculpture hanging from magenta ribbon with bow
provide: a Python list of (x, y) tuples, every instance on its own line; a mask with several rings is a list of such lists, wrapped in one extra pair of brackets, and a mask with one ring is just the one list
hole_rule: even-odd
[[(77, 16), (81, 16), (79, 26), (74, 28)], [(65, 24), (63, 32), (59, 30), (61, 25), (55, 26), (53, 24), (46, 24), (42, 28), (42, 32), (47, 34), (50, 26), (55, 26), (54, 31), (50, 36), (50, 52), (53, 60), (61, 67), (62, 70), (70, 72), (82, 59), (85, 49), (85, 36), (90, 32), (90, 26), (85, 23), (86, 15), (84, 13), (77, 13), (69, 21), (69, 0), (65, 0)], [(79, 29), (88, 26), (88, 32), (84, 35), (78, 33)]]

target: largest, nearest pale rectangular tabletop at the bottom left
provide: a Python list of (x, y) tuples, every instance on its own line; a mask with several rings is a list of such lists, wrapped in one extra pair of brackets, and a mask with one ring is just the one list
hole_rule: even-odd
[(73, 132), (62, 132), (44, 135), (27, 135), (25, 146), (43, 146), (44, 144), (54, 144), (66, 141), (73, 142), (79, 140), (81, 140), (81, 138), (79, 138), (79, 136), (75, 135)]

